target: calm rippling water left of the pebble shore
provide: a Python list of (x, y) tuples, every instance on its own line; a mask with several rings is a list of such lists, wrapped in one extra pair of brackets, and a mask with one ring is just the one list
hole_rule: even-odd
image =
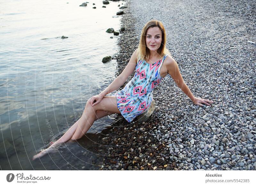
[(119, 36), (106, 30), (120, 29), (121, 16), (115, 15), (122, 2), (110, 1), (107, 8), (101, 0), (87, 7), (80, 7), (82, 3), (0, 1), (2, 170), (95, 167), (91, 164), (98, 156), (98, 134), (115, 120), (113, 115), (95, 121), (80, 145), (68, 144), (59, 153), (31, 161), (41, 147), (72, 126), (86, 101), (115, 77), (116, 61), (101, 60), (118, 51)]

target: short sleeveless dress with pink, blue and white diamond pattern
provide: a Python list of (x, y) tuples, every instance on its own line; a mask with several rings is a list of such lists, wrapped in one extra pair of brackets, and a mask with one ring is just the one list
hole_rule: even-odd
[(164, 58), (153, 64), (138, 60), (135, 67), (136, 73), (131, 81), (113, 95), (117, 99), (117, 108), (129, 123), (150, 106), (153, 89), (163, 79), (160, 76), (160, 68), (167, 56), (168, 54), (164, 55)]

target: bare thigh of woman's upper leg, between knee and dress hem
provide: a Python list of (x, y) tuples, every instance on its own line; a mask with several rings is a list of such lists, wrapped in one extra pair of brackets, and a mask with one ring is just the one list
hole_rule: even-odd
[(95, 111), (101, 110), (104, 112), (121, 113), (117, 108), (117, 101), (115, 96), (104, 96), (100, 103), (92, 106)]

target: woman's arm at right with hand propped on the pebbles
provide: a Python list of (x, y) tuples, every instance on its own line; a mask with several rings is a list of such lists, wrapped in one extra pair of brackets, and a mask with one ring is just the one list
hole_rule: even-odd
[(177, 86), (193, 101), (195, 105), (203, 106), (201, 103), (211, 106), (209, 103), (213, 103), (208, 99), (198, 98), (195, 97), (186, 83), (184, 82), (181, 74), (180, 69), (177, 62), (170, 56), (167, 56), (165, 59), (166, 69), (168, 70), (168, 74), (171, 75), (172, 79), (175, 81)]

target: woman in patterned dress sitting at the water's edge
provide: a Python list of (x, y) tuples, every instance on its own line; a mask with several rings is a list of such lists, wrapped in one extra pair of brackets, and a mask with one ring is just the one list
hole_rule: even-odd
[[(152, 102), (153, 89), (167, 74), (171, 75), (194, 104), (211, 106), (209, 103), (213, 103), (212, 101), (194, 97), (191, 93), (165, 44), (166, 33), (163, 24), (157, 20), (149, 21), (143, 27), (139, 47), (133, 52), (124, 71), (99, 95), (88, 99), (81, 118), (59, 140), (51, 142), (49, 148), (36, 154), (33, 160), (47, 154), (59, 143), (81, 138), (95, 120), (109, 114), (121, 113), (128, 122), (132, 122), (136, 116), (148, 109)], [(114, 96), (106, 96), (121, 87), (134, 70), (135, 75), (124, 89)]]

